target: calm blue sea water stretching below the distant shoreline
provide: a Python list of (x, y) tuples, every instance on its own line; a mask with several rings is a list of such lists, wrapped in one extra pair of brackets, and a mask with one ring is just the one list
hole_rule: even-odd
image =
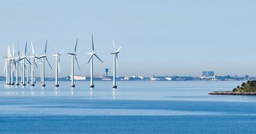
[(255, 96), (233, 82), (61, 82), (0, 89), (1, 133), (255, 133)]

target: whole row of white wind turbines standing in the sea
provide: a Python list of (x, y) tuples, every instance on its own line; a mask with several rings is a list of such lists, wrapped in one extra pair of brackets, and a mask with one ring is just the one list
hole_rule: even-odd
[[(31, 86), (34, 86), (35, 82), (35, 71), (38, 65), (37, 61), (39, 60), (40, 66), (41, 66), (41, 85), (44, 87), (46, 86), (45, 83), (45, 62), (48, 63), (48, 66), (52, 69), (51, 64), (49, 63), (49, 60), (47, 59), (47, 40), (45, 45), (44, 54), (39, 55), (34, 53), (34, 45), (31, 42), (31, 52), (32, 54), (27, 55), (27, 47), (28, 42), (25, 43), (25, 50), (22, 51), (22, 56), (19, 54), (19, 48), (17, 50), (17, 54), (15, 54), (15, 49), (13, 46), (12, 53), (10, 51), (10, 46), (7, 46), (7, 54), (4, 55), (4, 74), (6, 74), (6, 84), (7, 85), (16, 85), (19, 86), (19, 71), (21, 76), (21, 84), (22, 86), (26, 86), (26, 83), (31, 83)], [(76, 65), (80, 70), (80, 66), (77, 60), (77, 54), (76, 54), (76, 48), (78, 44), (78, 39), (76, 39), (76, 45), (73, 53), (68, 53), (68, 55), (71, 56), (71, 87), (75, 87), (74, 83), (74, 74), (75, 74), (75, 66), (74, 63), (76, 61)], [(88, 64), (91, 63), (91, 84), (90, 87), (94, 88), (94, 57), (96, 57), (98, 60), (100, 60), (101, 63), (103, 63), (103, 60), (100, 59), (100, 57), (97, 56), (95, 50), (94, 50), (94, 36), (91, 35), (91, 45), (92, 45), (92, 51), (88, 53), (90, 56), (90, 59), (88, 60)], [(114, 45), (114, 51), (111, 52), (114, 56), (114, 66), (113, 66), (113, 88), (116, 89), (118, 86), (116, 84), (116, 63), (118, 60), (118, 54), (120, 53), (121, 47), (116, 48), (115, 42), (113, 40)], [(57, 49), (54, 47), (55, 54), (53, 54), (53, 57), (55, 57), (55, 87), (58, 87), (58, 74), (60, 73), (60, 63), (61, 63), (61, 54), (63, 54), (64, 50), (61, 52), (58, 52)], [(20, 67), (20, 68), (19, 68)], [(29, 82), (29, 70), (31, 71), (31, 82)], [(16, 75), (16, 82), (14, 82), (14, 74)], [(26, 80), (25, 80), (26, 75)]]

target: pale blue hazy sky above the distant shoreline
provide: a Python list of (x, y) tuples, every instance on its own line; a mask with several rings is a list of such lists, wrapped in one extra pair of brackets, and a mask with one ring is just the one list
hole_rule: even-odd
[[(95, 74), (112, 73), (112, 39), (121, 45), (120, 75), (256, 76), (255, 0), (1, 0), (1, 54), (7, 45), (24, 48), (33, 42), (42, 54), (49, 40), (49, 60), (55, 66), (52, 46), (61, 56), (61, 76), (70, 74), (72, 52), (79, 38), (78, 60), (88, 75), (91, 33), (104, 63), (95, 62)], [(31, 51), (29, 45), (29, 51)], [(4, 60), (0, 63), (3, 65)], [(47, 69), (46, 76), (54, 70)], [(1, 66), (3, 74), (4, 66)]]

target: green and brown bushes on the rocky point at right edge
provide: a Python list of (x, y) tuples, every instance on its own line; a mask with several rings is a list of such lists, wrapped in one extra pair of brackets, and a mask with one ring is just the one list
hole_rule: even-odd
[(241, 87), (233, 89), (233, 92), (256, 92), (256, 80), (247, 81), (247, 83), (242, 83)]

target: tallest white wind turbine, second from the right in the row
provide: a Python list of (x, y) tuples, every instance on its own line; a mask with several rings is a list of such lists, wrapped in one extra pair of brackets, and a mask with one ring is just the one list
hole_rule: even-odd
[[(94, 35), (91, 35), (91, 45), (92, 45), (92, 52), (88, 53), (88, 55), (90, 55), (90, 60), (88, 61), (88, 63), (90, 63), (91, 61), (91, 88), (94, 88), (94, 56), (97, 57), (98, 60), (100, 60), (100, 58), (96, 55), (95, 51), (94, 51)], [(100, 60), (101, 63), (103, 63), (102, 60)]]

